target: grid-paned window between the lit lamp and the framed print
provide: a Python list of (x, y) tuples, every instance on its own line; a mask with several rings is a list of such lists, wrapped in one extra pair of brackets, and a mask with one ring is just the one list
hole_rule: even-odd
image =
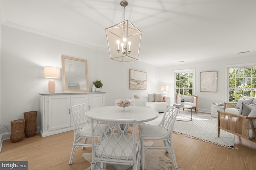
[(193, 95), (194, 93), (194, 70), (175, 71), (176, 95)]

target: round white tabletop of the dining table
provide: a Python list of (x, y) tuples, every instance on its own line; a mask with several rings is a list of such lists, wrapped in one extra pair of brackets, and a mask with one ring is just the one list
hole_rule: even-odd
[(86, 112), (86, 116), (104, 118), (104, 119), (136, 119), (137, 123), (148, 122), (156, 119), (159, 115), (158, 111), (148, 107), (130, 106), (125, 108), (126, 112), (122, 112), (122, 107), (106, 106), (98, 107)]

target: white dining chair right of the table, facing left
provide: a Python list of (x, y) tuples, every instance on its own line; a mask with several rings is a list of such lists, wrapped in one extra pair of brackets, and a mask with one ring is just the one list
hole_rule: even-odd
[[(174, 168), (178, 168), (172, 145), (172, 133), (177, 114), (177, 108), (167, 106), (164, 117), (159, 125), (139, 124), (142, 170), (146, 168), (145, 152), (148, 149), (163, 149), (166, 150), (166, 152), (170, 151), (172, 154)], [(164, 146), (144, 146), (144, 140), (163, 140)]]

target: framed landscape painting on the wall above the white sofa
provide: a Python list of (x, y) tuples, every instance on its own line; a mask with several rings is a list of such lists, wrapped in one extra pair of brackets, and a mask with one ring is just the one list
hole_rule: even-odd
[(129, 89), (147, 89), (147, 73), (129, 70)]

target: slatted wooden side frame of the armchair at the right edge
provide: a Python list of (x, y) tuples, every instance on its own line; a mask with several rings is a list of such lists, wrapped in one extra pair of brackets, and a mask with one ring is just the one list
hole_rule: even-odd
[[(222, 129), (256, 142), (256, 130), (253, 121), (256, 121), (256, 117), (247, 117), (225, 111), (218, 111), (218, 137), (220, 137), (220, 129)], [(252, 138), (252, 135), (254, 138)]]

